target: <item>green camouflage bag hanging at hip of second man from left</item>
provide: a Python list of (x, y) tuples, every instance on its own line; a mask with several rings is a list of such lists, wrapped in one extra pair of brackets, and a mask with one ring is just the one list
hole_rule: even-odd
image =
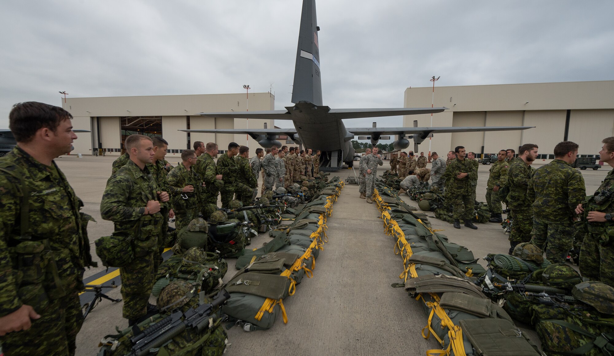
[(130, 233), (118, 232), (97, 239), (96, 255), (106, 267), (123, 267), (134, 260), (133, 237)]

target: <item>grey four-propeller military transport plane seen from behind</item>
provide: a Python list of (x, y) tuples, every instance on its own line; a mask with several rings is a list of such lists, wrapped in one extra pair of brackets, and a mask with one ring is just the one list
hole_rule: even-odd
[[(322, 104), (322, 83), (319, 52), (319, 26), (316, 20), (316, 1), (303, 0), (301, 25), (298, 34), (297, 60), (294, 69), (292, 91), (293, 106), (286, 110), (250, 111), (250, 112), (201, 112), (206, 117), (261, 118), (274, 120), (292, 120), (294, 128), (263, 129), (211, 129), (181, 130), (193, 133), (249, 134), (262, 147), (273, 145), (281, 147), (276, 141), (279, 135), (286, 135), (295, 144), (321, 150), (321, 171), (336, 171), (347, 163), (352, 166), (354, 147), (351, 140), (356, 135), (370, 135), (371, 144), (379, 139), (390, 139), (398, 135), (393, 142), (397, 150), (409, 147), (411, 137), (414, 151), (418, 145), (433, 133), (458, 133), (471, 131), (508, 131), (526, 130), (532, 126), (492, 126), (492, 127), (400, 127), (400, 128), (346, 128), (341, 121), (344, 118), (384, 117), (397, 115), (430, 114), (442, 112), (446, 107), (392, 108), (392, 109), (331, 109)], [(266, 124), (265, 124), (266, 125)], [(365, 137), (366, 139), (367, 137)], [(363, 139), (363, 137), (359, 137)]]

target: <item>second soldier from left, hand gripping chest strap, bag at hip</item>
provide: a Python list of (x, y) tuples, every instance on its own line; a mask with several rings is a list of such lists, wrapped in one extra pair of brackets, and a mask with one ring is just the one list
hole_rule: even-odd
[(115, 223), (115, 232), (134, 236), (134, 260), (120, 268), (122, 276), (123, 317), (130, 325), (147, 314), (147, 300), (157, 269), (158, 241), (163, 217), (160, 201), (169, 199), (160, 192), (146, 164), (153, 161), (153, 143), (143, 135), (126, 138), (130, 161), (107, 180), (100, 213)]

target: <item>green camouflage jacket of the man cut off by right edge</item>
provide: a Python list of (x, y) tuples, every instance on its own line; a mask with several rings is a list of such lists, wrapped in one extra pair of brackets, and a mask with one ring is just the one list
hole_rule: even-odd
[[(608, 172), (594, 195), (587, 196), (588, 203), (585, 204), (585, 216), (589, 211), (600, 211), (614, 215), (614, 169)], [(586, 219), (584, 219), (586, 221)], [(588, 231), (591, 233), (607, 233), (614, 236), (614, 222), (588, 222)], [(610, 240), (612, 237), (610, 237)]]

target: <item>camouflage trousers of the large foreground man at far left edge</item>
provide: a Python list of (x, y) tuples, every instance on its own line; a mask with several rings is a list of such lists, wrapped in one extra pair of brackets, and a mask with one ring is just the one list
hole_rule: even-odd
[(32, 320), (28, 330), (0, 336), (7, 356), (72, 356), (77, 349), (77, 333), (83, 325), (79, 295), (63, 296), (50, 301), (44, 310), (36, 310), (41, 319)]

